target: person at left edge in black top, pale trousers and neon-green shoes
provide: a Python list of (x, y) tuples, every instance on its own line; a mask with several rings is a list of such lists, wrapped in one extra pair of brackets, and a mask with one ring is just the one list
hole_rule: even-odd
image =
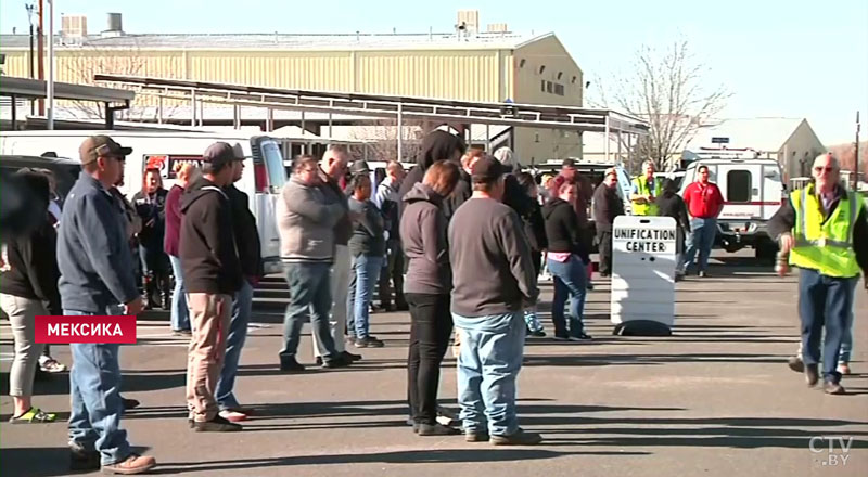
[(61, 275), (55, 255), (58, 233), (48, 212), (48, 178), (29, 169), (22, 169), (18, 175), (36, 199), (31, 212), (40, 220), (34, 230), (10, 237), (2, 246), (0, 308), (9, 317), (15, 341), (9, 373), (9, 394), (14, 404), (10, 422), (49, 423), (56, 416), (34, 408), (30, 397), (44, 347), (35, 343), (36, 317), (63, 314), (58, 292)]

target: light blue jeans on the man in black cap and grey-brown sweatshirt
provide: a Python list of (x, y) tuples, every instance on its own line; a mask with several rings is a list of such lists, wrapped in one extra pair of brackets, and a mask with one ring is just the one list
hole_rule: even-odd
[(481, 318), (452, 313), (452, 320), (461, 336), (458, 403), (464, 431), (515, 434), (515, 382), (524, 357), (524, 312)]

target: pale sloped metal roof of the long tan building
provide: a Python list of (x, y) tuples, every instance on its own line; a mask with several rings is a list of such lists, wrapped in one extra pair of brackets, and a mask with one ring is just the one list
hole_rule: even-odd
[[(56, 37), (58, 49), (105, 48), (145, 50), (514, 50), (553, 34), (154, 34)], [(0, 35), (3, 50), (26, 50), (28, 35)]]

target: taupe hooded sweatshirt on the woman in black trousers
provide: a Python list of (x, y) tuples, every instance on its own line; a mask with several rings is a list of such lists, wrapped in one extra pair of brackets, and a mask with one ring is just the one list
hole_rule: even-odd
[(404, 293), (448, 294), (452, 287), (443, 197), (418, 183), (404, 196), (400, 240), (407, 256)]

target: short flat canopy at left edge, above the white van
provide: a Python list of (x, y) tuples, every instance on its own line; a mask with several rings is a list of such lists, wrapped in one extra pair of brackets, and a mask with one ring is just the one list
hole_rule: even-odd
[[(12, 99), (13, 128), (16, 119), (15, 100), (18, 98), (29, 100), (46, 99), (48, 96), (47, 90), (48, 83), (38, 79), (4, 76), (0, 80), (0, 96), (10, 96)], [(136, 98), (136, 93), (132, 91), (54, 81), (54, 99), (56, 100), (105, 103), (106, 129), (113, 129), (114, 127), (114, 112), (129, 109), (133, 98)], [(115, 103), (120, 103), (120, 105), (115, 105)]]

